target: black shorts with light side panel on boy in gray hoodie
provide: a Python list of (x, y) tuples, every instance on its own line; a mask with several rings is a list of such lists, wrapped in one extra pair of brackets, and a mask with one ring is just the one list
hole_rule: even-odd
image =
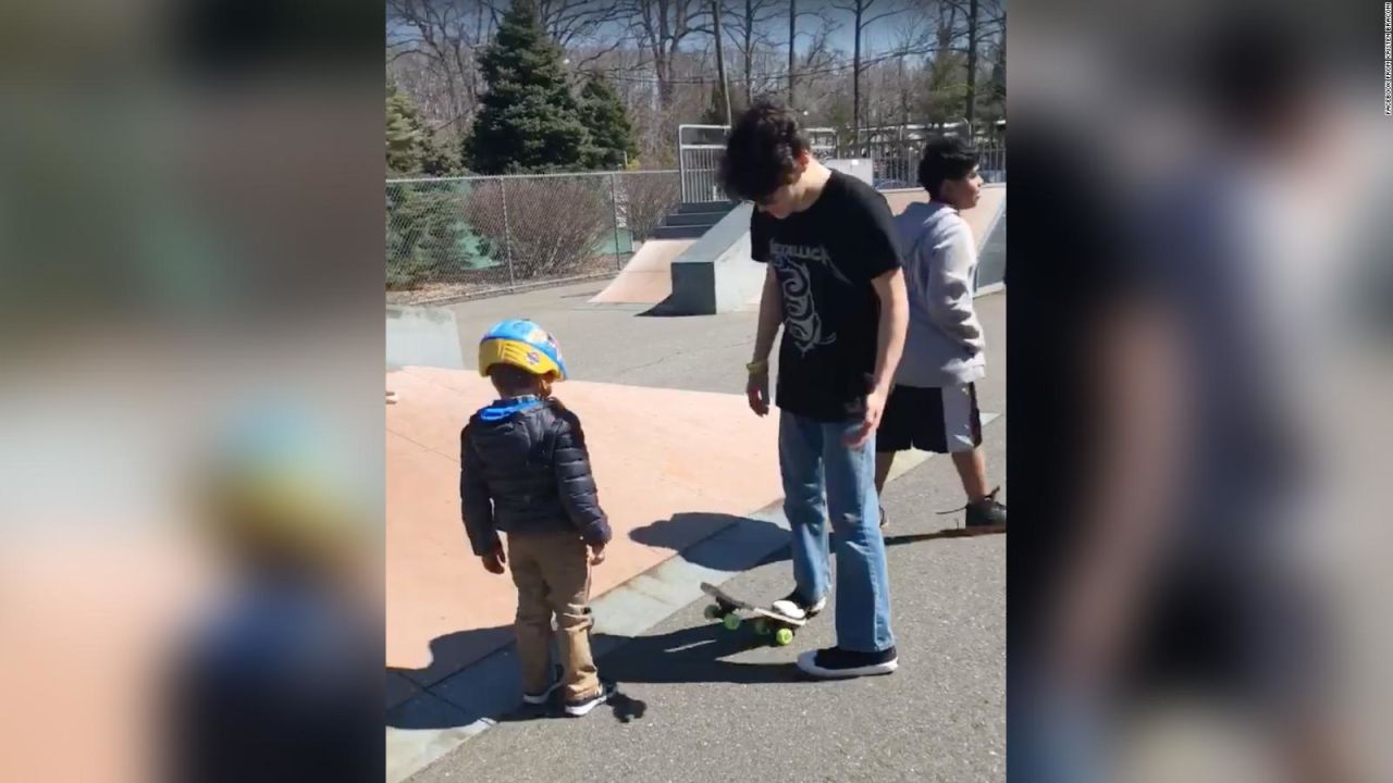
[(971, 451), (982, 444), (976, 386), (896, 386), (880, 415), (875, 450)]

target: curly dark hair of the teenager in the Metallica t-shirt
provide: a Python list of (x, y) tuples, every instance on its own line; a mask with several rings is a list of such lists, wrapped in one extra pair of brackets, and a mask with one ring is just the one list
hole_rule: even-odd
[(793, 181), (798, 155), (808, 149), (793, 111), (769, 99), (756, 100), (726, 139), (722, 188), (734, 201), (762, 201)]

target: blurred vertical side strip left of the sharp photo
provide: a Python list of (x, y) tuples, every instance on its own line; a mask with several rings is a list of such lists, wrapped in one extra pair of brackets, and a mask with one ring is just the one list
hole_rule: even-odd
[(0, 779), (380, 780), (380, 25), (7, 6)]

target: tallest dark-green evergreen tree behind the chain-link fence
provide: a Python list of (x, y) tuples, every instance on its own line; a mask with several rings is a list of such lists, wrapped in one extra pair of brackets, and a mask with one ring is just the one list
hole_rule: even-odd
[(588, 139), (561, 64), (534, 0), (514, 0), (479, 57), (489, 89), (464, 159), (481, 174), (577, 170)]

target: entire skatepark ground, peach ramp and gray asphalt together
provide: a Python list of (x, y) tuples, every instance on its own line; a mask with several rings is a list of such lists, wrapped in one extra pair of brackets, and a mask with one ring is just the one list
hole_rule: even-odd
[[(603, 775), (630, 770), (638, 779), (708, 780), (717, 768), (729, 776), (727, 762), (758, 765), (744, 754), (755, 750), (751, 743), (787, 726), (788, 715), (836, 741), (776, 779), (999, 780), (1004, 541), (921, 543), (954, 524), (931, 513), (960, 504), (951, 464), (903, 456), (886, 496), (896, 525), (887, 543), (905, 669), (885, 684), (853, 690), (797, 683), (788, 673), (793, 656), (830, 644), (830, 621), (811, 626), (793, 648), (748, 649), (740, 634), (717, 634), (699, 616), (705, 605), (699, 581), (730, 580), (730, 589), (756, 599), (788, 588), (776, 419), (754, 417), (740, 393), (755, 313), (635, 318), (641, 307), (589, 307), (599, 287), (468, 302), (412, 319), (412, 330), (429, 323), (439, 334), (426, 339), (430, 351), (410, 358), (449, 354), (440, 347), (453, 337), (462, 365), (454, 372), (389, 357), (389, 364), (404, 365), (387, 378), (400, 400), (387, 407), (389, 782), (471, 779), (481, 768), (490, 770), (489, 780), (570, 780), (582, 768)], [(1004, 410), (1004, 295), (978, 301), (992, 362), (979, 386), (988, 460), (1004, 465), (1004, 419), (992, 421), (989, 412)], [(596, 570), (596, 587), (607, 587), (593, 603), (595, 649), (602, 670), (624, 683), (624, 695), (613, 711), (596, 711), (579, 723), (508, 718), (520, 687), (510, 648), (511, 580), (478, 566), (458, 521), (458, 428), (490, 396), (474, 371), (474, 344), (490, 323), (515, 315), (538, 319), (561, 341), (574, 380), (557, 393), (586, 422), (600, 500), (616, 527), (610, 560)], [(401, 322), (389, 322), (389, 329), (393, 323)], [(657, 411), (674, 410), (687, 411), (681, 432), (655, 426)], [(992, 478), (1002, 483), (999, 474)], [(960, 673), (953, 683), (935, 674), (935, 658)], [(630, 715), (644, 709), (646, 718)], [(847, 738), (837, 729), (839, 716), (878, 720), (873, 716), (885, 711), (887, 720), (922, 738), (901, 738), (883, 761), (859, 768), (880, 751)], [(613, 720), (612, 712), (625, 716)], [(749, 743), (733, 744), (720, 726), (729, 718), (737, 719)], [(974, 730), (971, 740), (957, 729), (944, 734), (960, 723), (985, 729)], [(885, 740), (896, 736), (890, 731)], [(635, 744), (641, 737), (662, 743), (678, 737), (670, 755), (676, 765), (663, 761), (667, 755), (639, 750), (648, 747), (648, 740)], [(589, 744), (596, 741), (600, 745)], [(964, 741), (974, 744), (968, 750)], [(599, 747), (606, 750), (596, 754)], [(848, 752), (833, 754), (836, 747)], [(869, 773), (875, 769), (898, 772)], [(954, 770), (960, 775), (937, 776)]]

